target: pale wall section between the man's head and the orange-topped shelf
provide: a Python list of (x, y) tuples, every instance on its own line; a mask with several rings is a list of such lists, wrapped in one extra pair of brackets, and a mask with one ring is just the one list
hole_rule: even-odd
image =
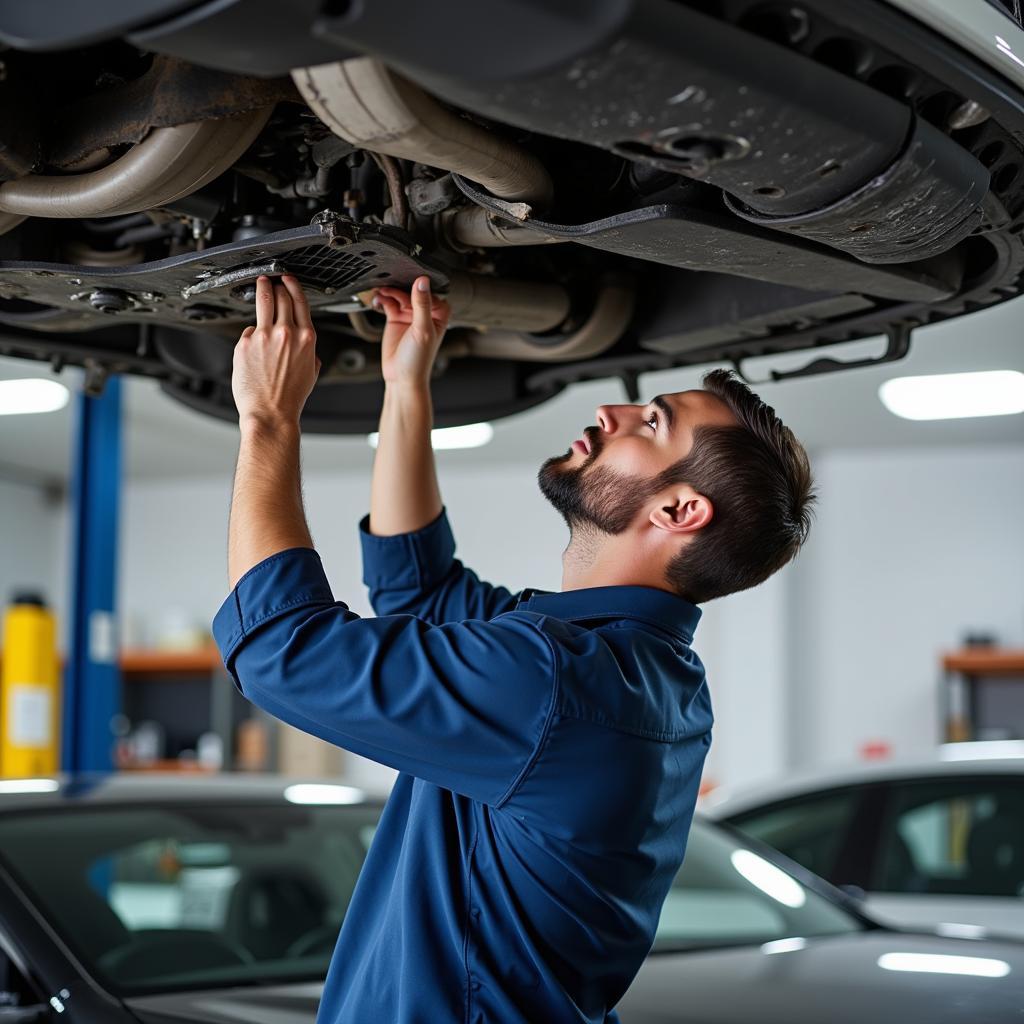
[(939, 736), (939, 659), (968, 631), (1024, 645), (1024, 447), (835, 452), (794, 573), (791, 763)]

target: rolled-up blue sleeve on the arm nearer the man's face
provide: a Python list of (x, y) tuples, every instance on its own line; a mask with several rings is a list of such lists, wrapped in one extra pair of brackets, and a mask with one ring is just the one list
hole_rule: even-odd
[(455, 557), (455, 537), (445, 509), (421, 529), (393, 537), (370, 532), (359, 521), (362, 582), (378, 615), (417, 615), (435, 625), (494, 618), (511, 611), (516, 596), (486, 583)]

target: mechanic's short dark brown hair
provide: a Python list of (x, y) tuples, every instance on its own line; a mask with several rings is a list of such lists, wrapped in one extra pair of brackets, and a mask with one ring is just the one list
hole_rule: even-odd
[(672, 558), (668, 583), (694, 604), (763, 583), (807, 539), (814, 494), (804, 446), (729, 370), (701, 381), (738, 421), (701, 426), (685, 459), (659, 474), (659, 487), (688, 483), (710, 499), (711, 522)]

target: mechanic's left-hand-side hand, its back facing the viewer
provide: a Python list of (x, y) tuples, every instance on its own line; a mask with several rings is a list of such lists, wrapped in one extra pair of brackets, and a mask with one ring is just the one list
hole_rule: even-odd
[(298, 423), (321, 360), (309, 305), (296, 278), (282, 284), (256, 282), (256, 326), (247, 327), (234, 346), (231, 393), (239, 423)]

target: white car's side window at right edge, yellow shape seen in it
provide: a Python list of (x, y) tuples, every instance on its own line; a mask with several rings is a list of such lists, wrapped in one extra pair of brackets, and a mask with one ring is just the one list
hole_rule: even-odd
[(999, 778), (893, 786), (871, 888), (1024, 896), (1022, 791)]

